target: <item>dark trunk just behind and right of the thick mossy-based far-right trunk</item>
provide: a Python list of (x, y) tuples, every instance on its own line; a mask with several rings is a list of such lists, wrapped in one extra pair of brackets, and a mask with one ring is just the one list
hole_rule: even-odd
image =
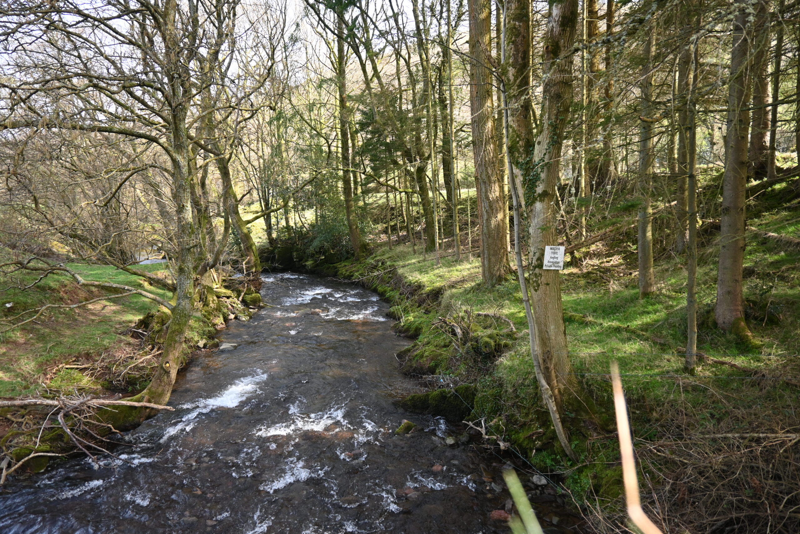
[(750, 178), (766, 178), (768, 158), (766, 135), (770, 130), (770, 109), (764, 107), (770, 98), (768, 58), (770, 52), (770, 24), (768, 21), (770, 0), (758, 2), (753, 28), (751, 77), (753, 79), (753, 116), (750, 127)]

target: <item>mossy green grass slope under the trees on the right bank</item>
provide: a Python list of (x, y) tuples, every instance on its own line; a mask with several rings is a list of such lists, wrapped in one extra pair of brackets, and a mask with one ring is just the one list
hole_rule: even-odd
[[(749, 223), (762, 230), (796, 235), (800, 223), (795, 219), (796, 212), (775, 212)], [(794, 270), (800, 253), (786, 253), (770, 243), (750, 241), (748, 245), (746, 299), (753, 311), (750, 326), (764, 343), (758, 353), (748, 351), (733, 335), (713, 326), (714, 256), (713, 243), (701, 251), (698, 297), (702, 323), (698, 348), (742, 366), (763, 369), (770, 375), (800, 376), (796, 356), (800, 346), (800, 276)], [(370, 260), (402, 266), (398, 273), (406, 282), (442, 295), (438, 310), (430, 315), (414, 305), (404, 307), (404, 327), (420, 335), (422, 350), (414, 357), (432, 364), (431, 371), (476, 379), (475, 373), (470, 376), (469, 366), (454, 357), (450, 340), (430, 326), (436, 315), (471, 308), (506, 315), (518, 330), (526, 328), (518, 284), (511, 279), (490, 290), (482, 287), (477, 259), (456, 263), (448, 257), (436, 266), (432, 255), (423, 259), (412, 255), (410, 247), (402, 246), (392, 251), (379, 249)], [(622, 373), (629, 374), (624, 384), (640, 438), (672, 440), (692, 432), (770, 432), (797, 426), (795, 387), (776, 380), (746, 379), (745, 373), (715, 364), (700, 365), (695, 377), (683, 375), (683, 356), (676, 349), (684, 347), (686, 339), (686, 271), (677, 259), (660, 262), (658, 294), (640, 300), (633, 268), (617, 256), (562, 273), (565, 311), (595, 319), (590, 323), (568, 320), (566, 332), (574, 371), (580, 373), (582, 385), (598, 404), (610, 406), (610, 384), (604, 375), (610, 361), (616, 359)], [(765, 315), (767, 309), (773, 315)], [(775, 320), (774, 314), (781, 319)], [(654, 343), (650, 336), (666, 343)], [(540, 468), (556, 468), (561, 460), (550, 452), (531, 454), (542, 445), (540, 438), (545, 431), (536, 423), (537, 418), (542, 420), (543, 413), (535, 400), (538, 392), (526, 345), (526, 337), (519, 339), (498, 360), (493, 372), (478, 377), (473, 416), (486, 416), (487, 422), (494, 420), (494, 432), (506, 436)], [(616, 447), (613, 438), (590, 440), (579, 446), (585, 458), (592, 458), (597, 464), (571, 471), (568, 486), (578, 495), (590, 487), (606, 496), (616, 495), (618, 476), (613, 468), (603, 468), (618, 460)]]

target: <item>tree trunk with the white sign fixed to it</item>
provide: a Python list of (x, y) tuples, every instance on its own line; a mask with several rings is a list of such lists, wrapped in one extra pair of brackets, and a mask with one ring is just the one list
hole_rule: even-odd
[[(555, 197), (560, 178), (564, 130), (572, 103), (572, 49), (578, 0), (552, 2), (547, 16), (542, 65), (542, 129), (534, 157), (523, 165), (522, 188), (530, 225), (530, 284), (542, 363), (559, 410), (572, 404), (577, 387), (567, 354), (559, 271), (543, 270), (544, 247), (558, 243)], [(556, 61), (558, 60), (558, 61)]]

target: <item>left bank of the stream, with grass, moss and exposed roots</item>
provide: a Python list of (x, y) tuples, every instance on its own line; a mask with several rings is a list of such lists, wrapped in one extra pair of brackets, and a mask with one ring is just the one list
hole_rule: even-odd
[[(66, 267), (85, 280), (103, 279), (171, 299), (170, 291), (114, 267), (84, 263)], [(165, 267), (154, 263), (138, 269), (169, 279)], [(102, 452), (104, 436), (138, 425), (142, 417), (134, 412), (94, 413), (84, 407), (85, 413), (76, 415), (67, 407), (79, 406), (82, 399), (108, 401), (142, 391), (158, 367), (164, 326), (170, 319), (169, 311), (151, 299), (135, 294), (117, 297), (122, 290), (79, 285), (58, 272), (39, 279), (30, 271), (18, 271), (6, 282), (9, 287), (0, 300), (7, 329), (0, 334), (0, 399), (55, 400), (66, 410), (58, 417), (66, 419), (56, 421), (56, 411), (42, 406), (0, 408), (0, 452), (11, 459), (3, 464), (3, 480), (9, 472), (42, 471), (53, 457), (68, 456), (84, 446)], [(201, 280), (182, 364), (215, 347), (214, 335), (226, 327), (226, 320), (246, 321), (258, 309), (261, 297), (252, 283), (216, 273)], [(256, 285), (261, 286), (260, 280)], [(65, 426), (71, 427), (70, 432)], [(34, 453), (49, 456), (27, 458)]]

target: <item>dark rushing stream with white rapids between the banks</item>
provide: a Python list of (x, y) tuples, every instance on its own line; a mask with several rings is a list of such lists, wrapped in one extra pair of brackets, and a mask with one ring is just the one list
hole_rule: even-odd
[[(94, 468), (70, 460), (0, 494), (0, 532), (509, 532), (497, 466), (448, 446), (417, 390), (388, 306), (311, 275), (269, 275), (267, 307), (194, 359), (170, 405)], [(396, 436), (403, 419), (417, 432)], [(494, 470), (494, 471), (493, 471)], [(493, 478), (494, 477), (494, 478)]]

